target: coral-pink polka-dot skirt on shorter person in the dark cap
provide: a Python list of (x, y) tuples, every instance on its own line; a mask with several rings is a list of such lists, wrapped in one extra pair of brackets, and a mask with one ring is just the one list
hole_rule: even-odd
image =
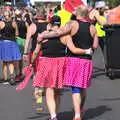
[(40, 57), (33, 79), (34, 87), (62, 88), (65, 58)]

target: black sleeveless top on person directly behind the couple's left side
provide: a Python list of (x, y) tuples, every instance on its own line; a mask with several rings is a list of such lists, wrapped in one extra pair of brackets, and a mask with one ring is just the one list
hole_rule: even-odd
[(36, 32), (34, 35), (32, 35), (32, 43), (31, 43), (31, 51), (33, 52), (36, 48), (36, 44), (37, 44), (37, 36), (38, 33), (42, 33), (43, 31), (45, 31), (47, 29), (47, 24), (48, 22), (41, 22), (41, 23), (35, 23), (36, 24)]

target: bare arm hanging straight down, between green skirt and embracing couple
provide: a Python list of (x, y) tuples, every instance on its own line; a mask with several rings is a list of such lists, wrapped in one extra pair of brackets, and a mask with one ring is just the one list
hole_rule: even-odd
[(27, 35), (26, 35), (26, 40), (25, 40), (25, 48), (24, 48), (24, 53), (28, 52), (30, 40), (33, 34), (36, 32), (36, 25), (32, 23), (30, 26), (27, 27)]

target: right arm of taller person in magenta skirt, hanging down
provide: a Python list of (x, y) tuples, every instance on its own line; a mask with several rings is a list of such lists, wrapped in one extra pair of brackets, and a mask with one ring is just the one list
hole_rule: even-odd
[(99, 40), (98, 40), (96, 28), (94, 27), (94, 25), (91, 25), (91, 26), (90, 26), (90, 33), (91, 33), (91, 36), (93, 37), (93, 45), (92, 45), (92, 48), (93, 48), (93, 49), (97, 49), (97, 48), (98, 48), (98, 45), (99, 45)]

